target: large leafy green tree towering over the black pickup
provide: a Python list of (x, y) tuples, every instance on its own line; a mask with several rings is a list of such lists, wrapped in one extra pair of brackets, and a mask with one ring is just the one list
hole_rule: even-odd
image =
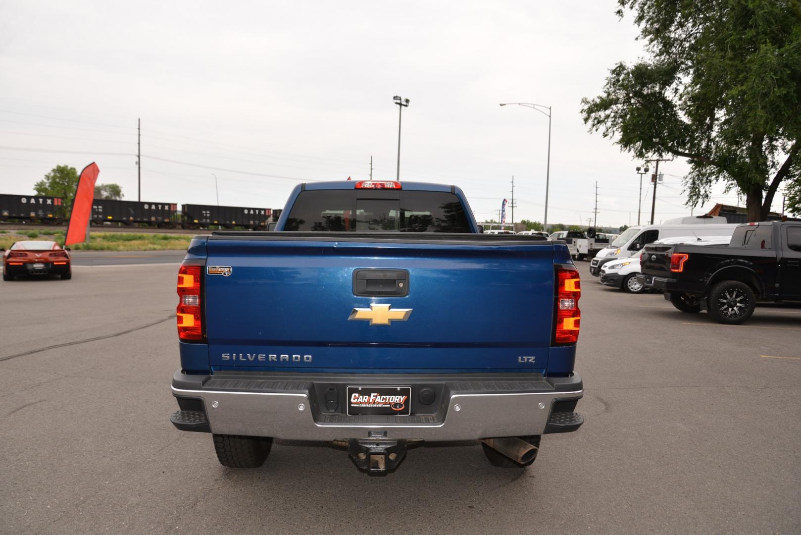
[(590, 132), (638, 158), (686, 157), (688, 205), (723, 181), (764, 220), (779, 184), (801, 180), (801, 3), (618, 0), (626, 10), (647, 57), (582, 99)]

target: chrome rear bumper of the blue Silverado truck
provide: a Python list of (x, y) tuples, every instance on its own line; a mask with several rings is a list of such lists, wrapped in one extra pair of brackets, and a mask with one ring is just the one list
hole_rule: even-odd
[[(400, 383), (409, 383), (408, 377), (405, 375)], [(376, 382), (375, 377), (362, 378), (362, 383)], [(378, 432), (396, 440), (478, 440), (545, 433), (555, 403), (580, 399), (584, 394), (578, 375), (566, 379), (554, 384), (542, 377), (533, 381), (454, 381), (453, 375), (447, 379), (443, 376), (444, 395), (431, 409), (436, 413), (409, 416), (327, 413), (321, 410), (311, 383), (292, 381), (270, 383), (271, 391), (266, 391), (264, 382), (253, 389), (239, 381), (225, 381), (233, 387), (174, 385), (172, 393), (179, 399), (202, 400), (211, 432), (223, 435), (328, 441), (364, 438)], [(431, 376), (427, 380), (430, 382)], [(279, 384), (287, 386), (284, 391), (276, 391), (274, 386)]]

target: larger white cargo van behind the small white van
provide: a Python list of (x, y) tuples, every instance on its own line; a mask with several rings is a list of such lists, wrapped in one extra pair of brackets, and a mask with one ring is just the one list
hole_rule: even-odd
[[(722, 224), (710, 217), (694, 217), (693, 223), (683, 225), (639, 225), (626, 229), (606, 249), (601, 249), (590, 261), (590, 274), (601, 274), (601, 266), (608, 261), (636, 255), (646, 244), (666, 237), (731, 236), (736, 224)], [(686, 221), (686, 218), (685, 218)], [(709, 221), (709, 222), (706, 222)]]

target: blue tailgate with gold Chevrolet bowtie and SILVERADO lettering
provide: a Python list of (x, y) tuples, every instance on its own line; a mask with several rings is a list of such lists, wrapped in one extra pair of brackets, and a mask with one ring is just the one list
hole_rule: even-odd
[[(547, 366), (551, 242), (293, 234), (209, 237), (207, 266), (231, 267), (228, 275), (204, 276), (213, 369), (530, 372)], [(356, 295), (359, 269), (405, 270), (408, 295)]]

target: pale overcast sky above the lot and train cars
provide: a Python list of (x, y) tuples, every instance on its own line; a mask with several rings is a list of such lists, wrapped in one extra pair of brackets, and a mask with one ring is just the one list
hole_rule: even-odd
[[(0, 2), (0, 193), (91, 161), (136, 200), (282, 208), (303, 181), (457, 184), (479, 220), (515, 176), (515, 220), (637, 221), (639, 162), (579, 109), (642, 55), (616, 2)], [(656, 219), (689, 215), (662, 164)], [(642, 221), (650, 216), (643, 184)], [(717, 188), (714, 202), (736, 204)], [(781, 208), (781, 198), (774, 208)], [(695, 213), (700, 213), (698, 209)], [(508, 220), (511, 214), (507, 215)], [(631, 219), (630, 219), (631, 218)]]

